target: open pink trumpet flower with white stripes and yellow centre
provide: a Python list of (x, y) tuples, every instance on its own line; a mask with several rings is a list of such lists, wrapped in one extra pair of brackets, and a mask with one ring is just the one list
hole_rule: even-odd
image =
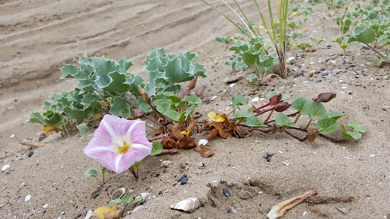
[(121, 173), (152, 151), (145, 135), (145, 122), (106, 114), (84, 153), (107, 169)]

